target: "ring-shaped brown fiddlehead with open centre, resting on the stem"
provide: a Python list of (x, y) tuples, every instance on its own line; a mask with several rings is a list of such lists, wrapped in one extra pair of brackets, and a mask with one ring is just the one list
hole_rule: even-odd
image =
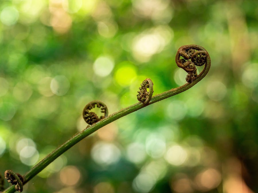
[[(98, 117), (96, 113), (90, 112), (90, 110), (95, 108), (95, 106), (97, 106), (97, 108), (100, 108), (101, 113), (103, 113), (103, 116)], [(99, 120), (107, 116), (108, 116), (107, 106), (102, 101), (91, 101), (83, 109), (83, 119), (89, 125), (97, 123)]]

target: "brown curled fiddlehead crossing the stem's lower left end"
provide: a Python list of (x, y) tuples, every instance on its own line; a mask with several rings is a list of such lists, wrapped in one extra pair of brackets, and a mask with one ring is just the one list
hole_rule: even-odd
[(15, 185), (15, 190), (18, 192), (22, 192), (23, 190), (23, 177), (21, 174), (16, 174), (12, 170), (5, 171), (5, 179), (7, 182)]

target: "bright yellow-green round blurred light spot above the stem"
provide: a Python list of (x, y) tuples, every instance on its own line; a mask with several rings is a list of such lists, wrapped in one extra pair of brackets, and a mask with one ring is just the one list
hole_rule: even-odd
[(123, 61), (118, 65), (115, 72), (115, 80), (121, 86), (129, 86), (133, 79), (136, 78), (136, 67), (130, 61)]

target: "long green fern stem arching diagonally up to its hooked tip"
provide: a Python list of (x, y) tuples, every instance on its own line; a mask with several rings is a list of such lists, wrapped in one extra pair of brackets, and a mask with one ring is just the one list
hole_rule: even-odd
[[(206, 51), (203, 47), (200, 47), (198, 45), (193, 45), (195, 47), (198, 47), (201, 50)], [(58, 158), (60, 155), (62, 155), (64, 152), (66, 152), (67, 150), (69, 150), (69, 148), (71, 148), (72, 146), (74, 146), (75, 144), (77, 144), (79, 141), (81, 141), (82, 139), (84, 139), (85, 137), (89, 136), (90, 134), (92, 134), (93, 132), (97, 131), (99, 128), (123, 117), (126, 116), (132, 112), (135, 112), (141, 108), (144, 108), (150, 104), (153, 104), (155, 102), (161, 101), (165, 98), (169, 98), (173, 95), (179, 94), (189, 88), (191, 88), (193, 85), (195, 85), (196, 83), (198, 83), (201, 79), (204, 78), (204, 76), (208, 73), (209, 69), (210, 69), (210, 56), (207, 53), (207, 60), (206, 60), (206, 64), (204, 66), (204, 69), (202, 70), (202, 72), (196, 77), (196, 79), (191, 82), (191, 83), (186, 83), (183, 86), (171, 89), (169, 91), (165, 91), (161, 94), (155, 95), (151, 98), (150, 102), (147, 105), (144, 105), (143, 103), (139, 102), (136, 103), (134, 105), (131, 105), (129, 107), (126, 107), (118, 112), (115, 112), (109, 116), (107, 116), (106, 118), (103, 118), (102, 120), (100, 120), (99, 122), (91, 125), (90, 127), (82, 130), (81, 132), (75, 134), (73, 137), (71, 137), (67, 142), (65, 142), (64, 144), (62, 144), (61, 146), (59, 146), (57, 149), (55, 149), (53, 152), (51, 152), (50, 154), (48, 154), (48, 156), (46, 156), (43, 160), (41, 160), (36, 166), (34, 166), (30, 171), (28, 171), (24, 176), (24, 182), (23, 184), (26, 184), (30, 179), (32, 179), (34, 176), (36, 176), (39, 172), (41, 172), (44, 168), (46, 168), (51, 162), (53, 162), (56, 158)], [(3, 191), (2, 193), (12, 193), (15, 192), (14, 186), (10, 186), (9, 188), (7, 188), (5, 191)]]

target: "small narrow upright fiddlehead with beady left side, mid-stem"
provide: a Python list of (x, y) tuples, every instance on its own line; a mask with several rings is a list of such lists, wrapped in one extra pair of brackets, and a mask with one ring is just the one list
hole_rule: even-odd
[[(147, 88), (149, 91), (147, 91)], [(148, 104), (153, 94), (153, 82), (151, 79), (146, 78), (142, 83), (141, 87), (139, 87), (140, 91), (137, 91), (137, 99), (143, 104)]]

